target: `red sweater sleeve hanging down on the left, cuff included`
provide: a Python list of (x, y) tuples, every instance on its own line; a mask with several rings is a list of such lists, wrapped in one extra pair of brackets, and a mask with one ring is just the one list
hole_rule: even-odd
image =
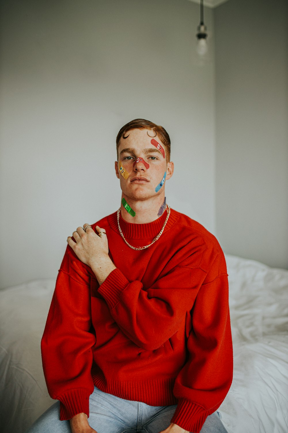
[(90, 302), (89, 276), (78, 268), (77, 259), (67, 249), (41, 340), (47, 389), (52, 398), (60, 401), (60, 420), (81, 412), (89, 417), (95, 343), (90, 332)]

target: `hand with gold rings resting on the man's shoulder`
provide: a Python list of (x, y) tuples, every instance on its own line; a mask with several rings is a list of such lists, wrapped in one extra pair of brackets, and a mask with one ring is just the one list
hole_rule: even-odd
[[(88, 224), (84, 224), (84, 226), (88, 226)], [(95, 229), (97, 233), (105, 233), (105, 229), (101, 229), (99, 226), (96, 226)], [(90, 268), (92, 268), (93, 264), (101, 262), (101, 260), (108, 257), (107, 236), (98, 236), (97, 233), (95, 233), (92, 227), (88, 227), (86, 232), (82, 227), (78, 227), (73, 232), (75, 242), (71, 236), (67, 238), (68, 245), (73, 249), (78, 259), (85, 263), (85, 265), (90, 266)]]

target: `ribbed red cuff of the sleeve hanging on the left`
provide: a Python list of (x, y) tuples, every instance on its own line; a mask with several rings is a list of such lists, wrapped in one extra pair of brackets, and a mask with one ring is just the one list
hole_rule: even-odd
[(89, 417), (90, 394), (87, 389), (73, 389), (57, 397), (60, 401), (60, 421), (70, 420), (82, 412)]

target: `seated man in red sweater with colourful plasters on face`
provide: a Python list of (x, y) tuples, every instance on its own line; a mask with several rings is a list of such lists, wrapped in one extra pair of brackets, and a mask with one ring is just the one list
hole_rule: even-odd
[(41, 343), (60, 404), (30, 432), (226, 431), (213, 414), (232, 380), (225, 259), (166, 204), (173, 169), (164, 128), (120, 129), (121, 207), (67, 239)]

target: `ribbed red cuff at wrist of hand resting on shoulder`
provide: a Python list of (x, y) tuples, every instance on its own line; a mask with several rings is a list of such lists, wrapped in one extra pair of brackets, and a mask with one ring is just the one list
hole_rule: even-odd
[(98, 292), (104, 297), (110, 310), (118, 304), (121, 294), (128, 284), (127, 278), (116, 268), (110, 272), (106, 280), (98, 288)]

